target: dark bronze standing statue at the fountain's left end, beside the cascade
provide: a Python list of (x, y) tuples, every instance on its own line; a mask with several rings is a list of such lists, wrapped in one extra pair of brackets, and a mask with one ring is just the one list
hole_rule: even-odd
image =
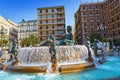
[(8, 61), (12, 61), (13, 59), (17, 60), (17, 51), (18, 51), (18, 46), (15, 40), (13, 40), (9, 44), (9, 53), (10, 53), (10, 59)]

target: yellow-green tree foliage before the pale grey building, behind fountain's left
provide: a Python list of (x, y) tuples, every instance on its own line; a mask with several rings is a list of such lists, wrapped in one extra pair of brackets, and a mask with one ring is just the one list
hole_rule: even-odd
[(25, 38), (21, 41), (21, 46), (35, 46), (36, 44), (39, 43), (39, 38), (37, 36), (29, 35), (28, 38)]

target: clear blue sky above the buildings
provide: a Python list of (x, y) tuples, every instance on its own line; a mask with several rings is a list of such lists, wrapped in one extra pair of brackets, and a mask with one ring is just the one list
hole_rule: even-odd
[[(93, 0), (93, 2), (96, 1), (98, 0)], [(92, 2), (92, 0), (0, 0), (0, 15), (18, 23), (22, 19), (37, 19), (37, 8), (64, 6), (66, 26), (73, 26), (75, 12), (81, 3), (86, 2)]]

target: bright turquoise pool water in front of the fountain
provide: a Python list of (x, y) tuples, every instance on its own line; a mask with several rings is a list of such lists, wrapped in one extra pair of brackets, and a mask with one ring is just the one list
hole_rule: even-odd
[(108, 57), (97, 68), (71, 74), (30, 74), (0, 71), (0, 80), (103, 80), (120, 77), (120, 57)]

